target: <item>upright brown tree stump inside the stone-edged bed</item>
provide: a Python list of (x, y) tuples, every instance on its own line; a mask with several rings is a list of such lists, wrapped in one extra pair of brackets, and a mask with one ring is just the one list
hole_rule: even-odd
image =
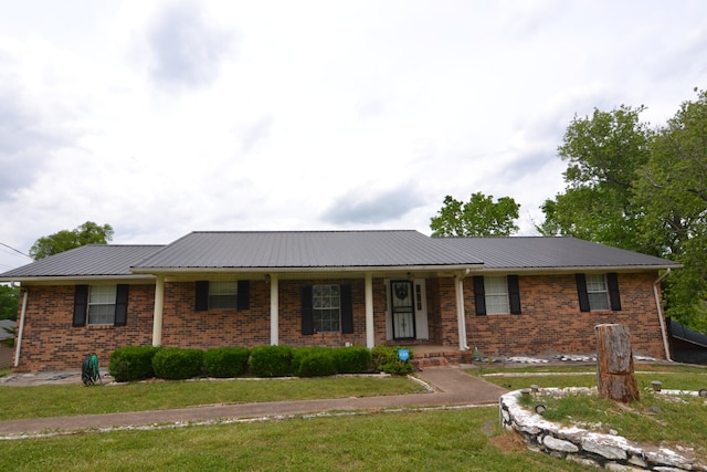
[(629, 328), (619, 324), (594, 326), (599, 396), (627, 403), (641, 399), (633, 370)]

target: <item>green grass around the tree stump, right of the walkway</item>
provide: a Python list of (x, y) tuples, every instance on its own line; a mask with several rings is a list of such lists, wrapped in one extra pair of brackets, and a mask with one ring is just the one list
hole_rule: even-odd
[[(503, 369), (494, 373), (471, 370), (485, 380), (510, 390), (537, 385), (546, 387), (595, 387), (597, 370), (592, 366), (562, 366), (562, 369), (544, 368)], [(551, 371), (550, 371), (551, 370)], [(564, 375), (550, 375), (561, 371)], [(707, 368), (684, 365), (637, 365), (636, 380), (641, 400), (629, 405), (598, 398), (588, 394), (571, 394), (564, 397), (531, 396), (530, 409), (537, 403), (547, 407), (544, 417), (563, 424), (587, 424), (587, 429), (616, 431), (631, 440), (661, 444), (690, 445), (698, 455), (707, 455), (707, 400), (692, 396), (663, 396), (653, 392), (651, 382), (659, 380), (663, 389), (699, 390), (707, 388)], [(528, 376), (528, 374), (539, 374)], [(488, 375), (492, 374), (492, 375)], [(494, 374), (503, 374), (497, 376)], [(686, 419), (689, 418), (689, 421)]]

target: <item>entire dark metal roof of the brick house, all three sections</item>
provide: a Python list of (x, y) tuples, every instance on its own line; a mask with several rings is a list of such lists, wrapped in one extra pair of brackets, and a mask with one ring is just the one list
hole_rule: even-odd
[(92, 244), (0, 274), (0, 282), (213, 269), (445, 268), (508, 271), (679, 268), (574, 238), (429, 238), (418, 231), (192, 232), (168, 245)]

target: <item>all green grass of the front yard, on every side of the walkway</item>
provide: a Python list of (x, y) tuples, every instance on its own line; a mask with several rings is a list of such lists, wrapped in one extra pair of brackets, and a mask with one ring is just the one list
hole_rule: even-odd
[[(687, 407), (675, 402), (658, 403), (661, 398), (653, 399), (645, 390), (654, 379), (663, 381), (666, 389), (707, 388), (707, 369), (652, 365), (639, 365), (636, 368), (652, 370), (637, 376), (644, 398), (641, 403), (627, 408), (616, 407), (614, 402), (598, 403), (599, 407), (592, 409), (585, 399), (577, 397), (570, 398), (569, 401), (574, 403), (567, 407), (552, 406), (548, 399), (548, 410), (561, 411), (564, 408), (564, 420), (569, 421), (571, 417), (573, 421), (582, 421), (580, 417), (585, 416), (584, 421), (601, 422), (601, 428), (616, 429), (622, 433), (625, 431), (631, 439), (635, 434), (636, 438), (667, 445), (676, 441), (676, 438), (680, 444), (707, 444), (704, 436), (704, 431), (707, 431), (704, 399), (697, 399), (703, 403), (690, 403)], [(526, 388), (531, 384), (548, 387), (595, 384), (594, 368), (591, 366), (532, 366), (521, 369), (495, 367), (490, 370), (484, 368), (471, 373), (506, 374), (508, 376), (483, 378), (514, 389)], [(550, 370), (578, 375), (544, 375)], [(524, 376), (528, 373), (541, 375)], [(0, 419), (208, 403), (397, 395), (421, 389), (416, 382), (394, 377), (154, 381), (102, 387), (1, 387), (3, 403), (11, 405), (12, 408), (0, 410)], [(659, 407), (658, 413), (653, 411), (654, 405)], [(687, 408), (687, 411), (682, 408)], [(608, 421), (616, 418), (620, 421)], [(686, 418), (689, 421), (685, 421)], [(557, 421), (563, 421), (562, 417)], [(635, 427), (630, 424), (632, 422)], [(676, 426), (680, 429), (676, 429)], [(672, 431), (679, 432), (675, 433), (676, 437), (664, 436)], [(0, 443), (0, 470), (18, 471), (595, 470), (527, 450), (517, 434), (499, 429), (497, 407), (444, 411), (407, 410), (394, 413), (381, 411), (271, 422), (120, 430), (7, 440)]]

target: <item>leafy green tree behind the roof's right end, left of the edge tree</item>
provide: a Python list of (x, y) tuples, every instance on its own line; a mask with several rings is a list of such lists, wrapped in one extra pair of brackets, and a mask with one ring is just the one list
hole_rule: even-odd
[(542, 204), (540, 233), (645, 251), (637, 239), (643, 213), (631, 204), (639, 169), (650, 156), (652, 132), (639, 119), (644, 109), (622, 105), (574, 116), (558, 148), (568, 162), (566, 190)]

